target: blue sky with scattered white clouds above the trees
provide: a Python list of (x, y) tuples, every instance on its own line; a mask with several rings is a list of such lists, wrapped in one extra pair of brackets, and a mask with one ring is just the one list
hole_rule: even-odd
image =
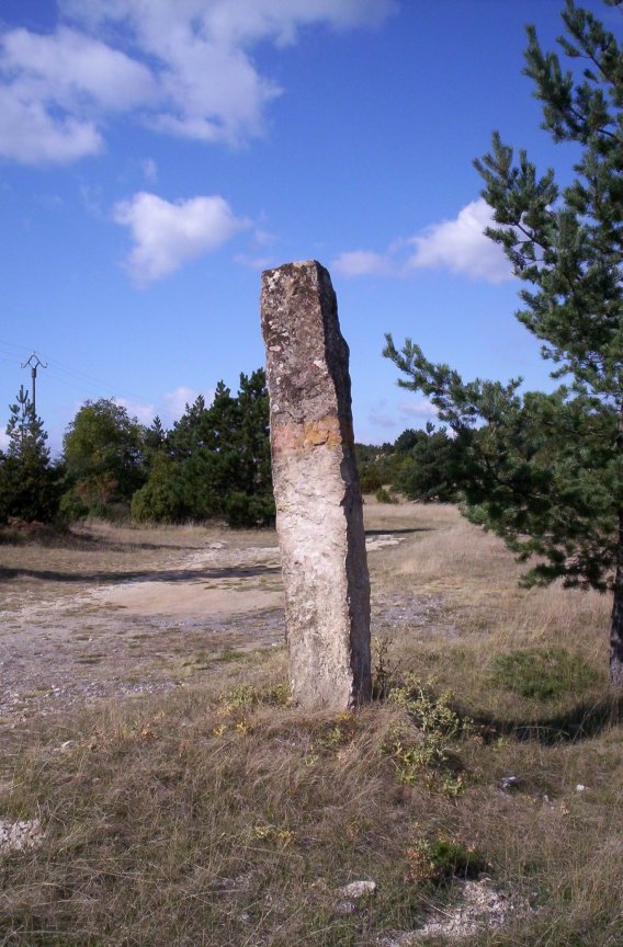
[(36, 351), (56, 449), (86, 399), (170, 426), (263, 364), (261, 270), (312, 258), (359, 441), (431, 418), (386, 331), (465, 377), (547, 386), (472, 160), (499, 129), (569, 173), (521, 75), (524, 24), (553, 48), (562, 5), (0, 0), (0, 422)]

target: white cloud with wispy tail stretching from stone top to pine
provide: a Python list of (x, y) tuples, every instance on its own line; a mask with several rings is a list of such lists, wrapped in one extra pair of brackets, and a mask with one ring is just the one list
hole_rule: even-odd
[(485, 236), (492, 224), (491, 209), (480, 197), (452, 220), (442, 220), (386, 251), (355, 250), (340, 253), (331, 266), (343, 276), (405, 277), (417, 270), (446, 270), (487, 283), (512, 278), (510, 263), (498, 243)]

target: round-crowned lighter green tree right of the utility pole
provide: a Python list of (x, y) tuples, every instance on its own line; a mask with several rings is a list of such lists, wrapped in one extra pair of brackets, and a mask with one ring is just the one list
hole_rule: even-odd
[(109, 515), (127, 507), (146, 479), (144, 429), (113, 400), (80, 408), (65, 434), (64, 452), (71, 484), (66, 510)]

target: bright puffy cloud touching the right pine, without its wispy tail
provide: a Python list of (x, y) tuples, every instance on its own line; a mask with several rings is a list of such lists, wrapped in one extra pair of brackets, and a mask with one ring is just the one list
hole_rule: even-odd
[(479, 197), (463, 207), (454, 220), (429, 227), (423, 236), (414, 237), (415, 252), (407, 266), (415, 270), (450, 270), (474, 279), (502, 283), (512, 277), (510, 263), (500, 246), (485, 237), (492, 224), (489, 205)]

